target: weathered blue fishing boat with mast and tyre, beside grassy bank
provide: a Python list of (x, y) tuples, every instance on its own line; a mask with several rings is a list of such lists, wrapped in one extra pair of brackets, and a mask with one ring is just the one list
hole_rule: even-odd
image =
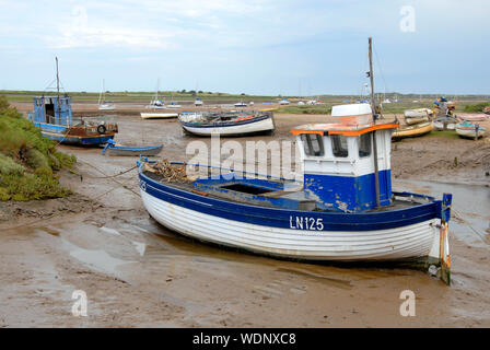
[(113, 139), (118, 131), (114, 117), (73, 117), (71, 97), (60, 94), (58, 58), (56, 71), (57, 94), (35, 96), (34, 112), (27, 118), (40, 128), (44, 137), (59, 143), (96, 145)]

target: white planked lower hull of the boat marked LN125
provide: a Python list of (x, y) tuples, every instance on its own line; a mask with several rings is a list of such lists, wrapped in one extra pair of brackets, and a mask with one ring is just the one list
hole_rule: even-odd
[(141, 190), (152, 218), (180, 234), (254, 253), (311, 260), (439, 258), (439, 219), (381, 231), (303, 231), (261, 226), (179, 207)]

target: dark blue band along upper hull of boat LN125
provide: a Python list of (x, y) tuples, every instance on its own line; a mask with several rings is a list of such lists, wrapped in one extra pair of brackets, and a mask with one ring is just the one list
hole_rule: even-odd
[(160, 184), (145, 176), (141, 170), (139, 178), (141, 189), (162, 201), (213, 217), (261, 226), (294, 229), (291, 228), (291, 222), (294, 223), (296, 218), (308, 218), (308, 220), (322, 219), (323, 231), (375, 231), (404, 228), (441, 218), (440, 200), (406, 209), (371, 213), (299, 211), (256, 207), (200, 196)]

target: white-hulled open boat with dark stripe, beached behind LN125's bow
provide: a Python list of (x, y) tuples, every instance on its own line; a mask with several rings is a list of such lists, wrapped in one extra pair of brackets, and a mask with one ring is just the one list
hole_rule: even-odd
[(198, 136), (244, 136), (250, 133), (272, 132), (275, 130), (273, 113), (258, 112), (199, 112), (183, 113), (178, 120), (184, 131)]

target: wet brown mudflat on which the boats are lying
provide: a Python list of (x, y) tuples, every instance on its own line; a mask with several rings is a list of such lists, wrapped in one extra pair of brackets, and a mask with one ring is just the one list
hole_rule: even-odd
[[(164, 143), (161, 155), (177, 161), (189, 158), (189, 141), (209, 142), (184, 136), (175, 119), (143, 121), (138, 108), (116, 112), (118, 142)], [(293, 127), (325, 120), (277, 115), (273, 136), (237, 140), (293, 140)], [(61, 174), (74, 196), (0, 202), (0, 327), (490, 326), (488, 139), (393, 144), (396, 189), (455, 196), (451, 288), (407, 268), (284, 261), (194, 242), (148, 215), (135, 170), (106, 178), (135, 159), (59, 149), (79, 160), (77, 174)], [(75, 290), (86, 293), (86, 317), (71, 313)], [(400, 316), (404, 290), (416, 293), (415, 317)]]

